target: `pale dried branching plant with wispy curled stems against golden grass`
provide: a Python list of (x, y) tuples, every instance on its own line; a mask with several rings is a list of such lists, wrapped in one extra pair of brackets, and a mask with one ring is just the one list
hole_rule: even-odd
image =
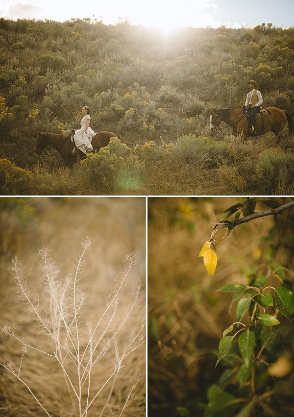
[[(103, 415), (104, 410), (111, 398), (115, 387), (115, 382), (122, 368), (123, 360), (134, 352), (138, 347), (145, 343), (145, 322), (137, 331), (131, 342), (124, 346), (122, 352), (118, 343), (117, 336), (123, 330), (128, 319), (131, 317), (139, 300), (139, 289), (132, 293), (133, 302), (128, 308), (123, 317), (118, 319), (118, 311), (120, 307), (120, 300), (123, 296), (123, 287), (128, 283), (130, 278), (130, 270), (137, 262), (137, 255), (133, 252), (125, 256), (123, 264), (124, 269), (115, 279), (115, 286), (111, 290), (107, 306), (98, 314), (98, 320), (95, 325), (88, 324), (88, 334), (84, 334), (84, 326), (81, 323), (83, 315), (82, 306), (84, 304), (85, 296), (81, 292), (79, 281), (83, 274), (83, 266), (85, 264), (85, 255), (90, 250), (93, 242), (90, 238), (86, 238), (82, 243), (83, 250), (76, 258), (76, 263), (73, 264), (73, 271), (63, 280), (57, 279), (57, 270), (55, 263), (51, 258), (51, 250), (44, 247), (39, 251), (42, 258), (42, 268), (44, 273), (40, 275), (40, 279), (44, 284), (44, 296), (47, 299), (48, 307), (41, 307), (40, 298), (38, 295), (31, 294), (24, 277), (24, 268), (20, 262), (15, 259), (11, 265), (12, 278), (15, 280), (19, 291), (18, 295), (23, 303), (29, 307), (33, 314), (32, 320), (37, 321), (43, 332), (49, 336), (55, 345), (53, 354), (45, 352), (34, 346), (25, 343), (24, 340), (16, 337), (9, 326), (0, 328), (2, 333), (7, 336), (15, 338), (18, 343), (21, 343), (24, 350), (21, 357), (18, 374), (13, 369), (13, 364), (2, 365), (6, 370), (15, 375), (31, 392), (38, 404), (50, 416), (49, 412), (45, 410), (44, 406), (37, 399), (36, 395), (31, 391), (29, 386), (21, 378), (21, 366), (26, 355), (26, 348), (32, 348), (50, 357), (54, 357), (62, 369), (66, 386), (73, 404), (73, 412), (75, 417), (87, 417), (88, 410), (93, 402), (98, 398), (101, 391), (112, 381), (107, 395), (107, 401), (104, 403), (100, 416)], [(115, 364), (111, 369), (109, 375), (105, 375), (102, 385), (95, 394), (91, 394), (91, 372), (98, 361), (107, 354), (111, 343), (114, 344)], [(25, 350), (26, 349), (26, 350)], [(133, 386), (130, 393), (137, 384)], [(126, 400), (126, 402), (129, 399)], [(83, 397), (86, 396), (86, 400)], [(126, 404), (126, 403), (125, 403)], [(123, 410), (125, 405), (123, 406)], [(122, 410), (122, 412), (123, 412)], [(122, 413), (121, 413), (122, 414)]]

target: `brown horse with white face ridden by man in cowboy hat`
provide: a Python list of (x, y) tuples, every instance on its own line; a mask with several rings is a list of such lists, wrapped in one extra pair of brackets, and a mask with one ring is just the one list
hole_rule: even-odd
[[(279, 136), (287, 122), (289, 133), (294, 132), (294, 121), (285, 110), (280, 110), (277, 107), (268, 107), (265, 110), (256, 115), (258, 135), (263, 135), (271, 130), (276, 136)], [(215, 127), (219, 127), (221, 122), (227, 123), (232, 127), (235, 135), (241, 134), (244, 139), (251, 135), (249, 132), (251, 122), (249, 121), (249, 117), (246, 116), (244, 108), (241, 110), (217, 110), (215, 108), (210, 115), (209, 129), (213, 131)]]

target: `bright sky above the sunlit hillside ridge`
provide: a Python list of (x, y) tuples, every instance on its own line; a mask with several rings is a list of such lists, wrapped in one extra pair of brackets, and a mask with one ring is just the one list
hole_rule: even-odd
[(294, 0), (0, 0), (0, 17), (65, 22), (93, 17), (105, 25), (127, 18), (132, 25), (161, 27), (294, 26)]

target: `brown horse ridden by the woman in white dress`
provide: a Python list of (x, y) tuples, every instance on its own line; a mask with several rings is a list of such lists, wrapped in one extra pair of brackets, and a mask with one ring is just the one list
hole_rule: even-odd
[[(43, 150), (47, 147), (53, 147), (64, 160), (65, 166), (73, 166), (73, 163), (85, 157), (85, 154), (78, 150), (78, 154), (72, 154), (74, 143), (71, 141), (72, 133), (68, 135), (58, 135), (56, 133), (38, 133), (36, 154), (41, 155)], [(119, 138), (120, 135), (112, 132), (98, 132), (92, 139), (92, 146), (94, 152), (98, 152), (101, 147), (107, 146), (111, 138)], [(57, 153), (56, 152), (56, 153)]]

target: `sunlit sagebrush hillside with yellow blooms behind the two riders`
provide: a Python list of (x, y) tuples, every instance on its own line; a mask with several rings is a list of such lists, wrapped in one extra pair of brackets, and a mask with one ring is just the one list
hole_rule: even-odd
[[(176, 156), (172, 159), (172, 174), (179, 177), (175, 180), (177, 188), (169, 185), (162, 189), (157, 184), (155, 189), (150, 189), (147, 182), (142, 185), (137, 181), (141, 185), (128, 189), (127, 194), (206, 194), (192, 184), (182, 184), (186, 172), (195, 175), (197, 180), (193, 184), (203, 183), (195, 164), (201, 165), (202, 173), (205, 170), (205, 178), (216, 177), (213, 169), (227, 170), (228, 166), (237, 175), (239, 185), (232, 189), (232, 181), (227, 178), (229, 173), (223, 176), (218, 170), (217, 184), (205, 187), (211, 194), (245, 191), (280, 194), (293, 189), (291, 181), (285, 182), (282, 177), (278, 184), (264, 184), (258, 179), (250, 189), (252, 182), (246, 174), (248, 170), (258, 176), (257, 166), (263, 165), (265, 158), (270, 158), (274, 170), (282, 160), (284, 172), (289, 172), (293, 165), (292, 139), (278, 141), (273, 134), (268, 134), (244, 147), (240, 141), (236, 145), (230, 129), (226, 130), (224, 141), (220, 133), (212, 136), (208, 126), (212, 107), (238, 108), (244, 104), (246, 81), (251, 78), (259, 82), (264, 107), (276, 106), (293, 116), (294, 28), (275, 28), (271, 24), (253, 29), (186, 27), (164, 36), (154, 28), (128, 22), (104, 25), (90, 19), (64, 23), (0, 19), (0, 49), (0, 158), (15, 167), (35, 172), (41, 161), (52, 174), (61, 160), (58, 155), (37, 159), (37, 132), (62, 134), (78, 128), (81, 107), (88, 105), (92, 128), (118, 132), (123, 143), (135, 151), (133, 157), (138, 158), (139, 165), (144, 162), (144, 170), (150, 163), (142, 157), (146, 149), (148, 155), (153, 152)], [(192, 145), (180, 141), (179, 150), (177, 138), (185, 139), (183, 135), (189, 134), (192, 134)], [(199, 137), (205, 142), (200, 146), (202, 150), (194, 144)], [(213, 144), (209, 142), (211, 138)], [(225, 151), (219, 149), (223, 141)], [(212, 147), (213, 151), (208, 152)], [(228, 156), (233, 147), (238, 148), (238, 160)], [(243, 154), (252, 166), (243, 166), (245, 159), (240, 159)], [(157, 162), (156, 155), (151, 158), (151, 172)], [(164, 162), (171, 164), (171, 161)], [(4, 173), (8, 170), (3, 168), (3, 163), (0, 168)], [(143, 168), (141, 177), (154, 183), (150, 172), (142, 173)], [(14, 166), (9, 169), (13, 171)], [(162, 170), (165, 176), (171, 177), (165, 166)], [(275, 177), (281, 175), (274, 172)], [(165, 176), (162, 183), (166, 182)], [(262, 172), (262, 178), (267, 176)], [(238, 177), (243, 178), (244, 185)], [(2, 193), (42, 194), (41, 185), (46, 182), (40, 178), (38, 181), (30, 188), (6, 191), (10, 187), (6, 179), (1, 183)], [(93, 194), (105, 192), (92, 191)], [(73, 190), (63, 192), (73, 194)], [(107, 193), (124, 194), (122, 190)], [(81, 190), (78, 194), (82, 194)]]

